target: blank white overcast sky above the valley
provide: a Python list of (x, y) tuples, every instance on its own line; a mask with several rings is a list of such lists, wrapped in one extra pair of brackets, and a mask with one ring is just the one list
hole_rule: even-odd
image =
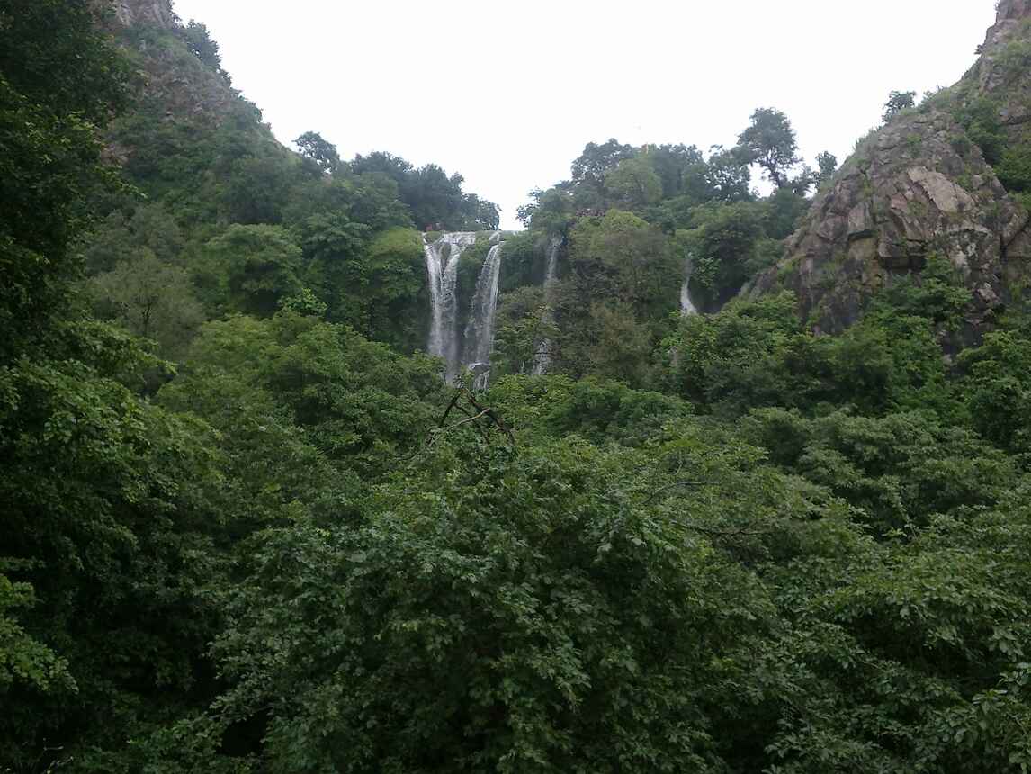
[(950, 86), (995, 0), (175, 0), (284, 142), (439, 164), (516, 207), (590, 141), (731, 146), (788, 114), (844, 161), (893, 89)]

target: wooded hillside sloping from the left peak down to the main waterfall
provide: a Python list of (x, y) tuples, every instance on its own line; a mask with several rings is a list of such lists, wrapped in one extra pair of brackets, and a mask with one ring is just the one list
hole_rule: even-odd
[(285, 148), (169, 0), (123, 0), (110, 24), (134, 77), (106, 141), (131, 188), (104, 202), (84, 249), (95, 314), (174, 360), (205, 319), (314, 293), (333, 322), (424, 348), (419, 231), (495, 228), (494, 205), (432, 164), (342, 161), (318, 132)]

